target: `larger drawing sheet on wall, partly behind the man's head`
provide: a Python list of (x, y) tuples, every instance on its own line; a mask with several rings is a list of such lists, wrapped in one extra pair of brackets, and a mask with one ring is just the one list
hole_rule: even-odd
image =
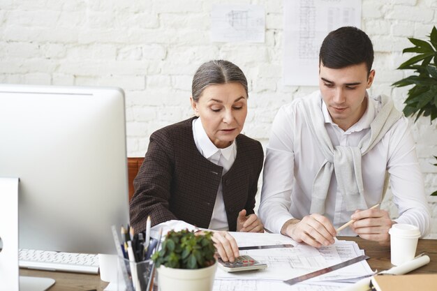
[(284, 84), (318, 85), (323, 38), (344, 26), (361, 27), (361, 0), (284, 1)]

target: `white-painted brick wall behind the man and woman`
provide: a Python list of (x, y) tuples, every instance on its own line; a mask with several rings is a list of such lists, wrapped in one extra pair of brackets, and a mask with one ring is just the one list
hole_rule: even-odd
[[(290, 1), (290, 0), (288, 0)], [(224, 1), (235, 3), (235, 1)], [(283, 0), (242, 0), (265, 7), (265, 43), (211, 43), (209, 13), (218, 0), (1, 0), (0, 82), (112, 85), (126, 91), (128, 155), (144, 156), (149, 135), (191, 116), (191, 77), (210, 59), (228, 59), (249, 79), (244, 132), (263, 145), (281, 105), (316, 87), (283, 84)], [(362, 0), (362, 29), (376, 51), (371, 92), (403, 108), (406, 89), (392, 82), (408, 55), (407, 37), (424, 38), (437, 23), (435, 0)], [(413, 124), (427, 193), (437, 189), (437, 122)], [(261, 181), (260, 181), (261, 183)], [(390, 195), (388, 195), (390, 196)], [(429, 197), (437, 238), (437, 197)], [(386, 209), (395, 215), (390, 203)]]

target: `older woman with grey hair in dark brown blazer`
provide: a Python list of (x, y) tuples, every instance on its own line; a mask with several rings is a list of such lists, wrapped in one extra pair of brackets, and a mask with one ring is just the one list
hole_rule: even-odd
[(135, 232), (146, 229), (147, 216), (152, 228), (183, 221), (182, 227), (216, 230), (218, 254), (232, 262), (239, 253), (228, 230), (264, 231), (253, 211), (264, 154), (260, 142), (241, 134), (248, 98), (235, 64), (208, 61), (198, 68), (190, 98), (195, 117), (150, 136), (130, 204)]

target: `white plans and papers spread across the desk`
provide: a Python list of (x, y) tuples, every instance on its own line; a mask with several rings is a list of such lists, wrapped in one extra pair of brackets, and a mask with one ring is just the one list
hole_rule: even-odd
[(313, 248), (306, 244), (298, 244), (290, 237), (281, 234), (248, 232), (231, 232), (231, 234), (239, 247), (273, 244), (292, 244), (293, 247), (239, 251), (240, 255), (250, 255), (255, 260), (267, 264), (267, 269), (240, 273), (227, 273), (217, 269), (214, 291), (339, 290), (364, 276), (374, 274), (366, 260), (362, 260), (301, 283), (288, 285), (283, 281), (356, 258), (364, 255), (364, 251), (360, 250), (355, 241), (336, 240), (331, 246)]

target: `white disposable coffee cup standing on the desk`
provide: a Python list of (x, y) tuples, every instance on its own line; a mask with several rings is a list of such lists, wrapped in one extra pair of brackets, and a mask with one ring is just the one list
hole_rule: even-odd
[(390, 234), (391, 262), (395, 266), (413, 260), (417, 240), (420, 237), (419, 227), (404, 223), (395, 223), (388, 231)]

